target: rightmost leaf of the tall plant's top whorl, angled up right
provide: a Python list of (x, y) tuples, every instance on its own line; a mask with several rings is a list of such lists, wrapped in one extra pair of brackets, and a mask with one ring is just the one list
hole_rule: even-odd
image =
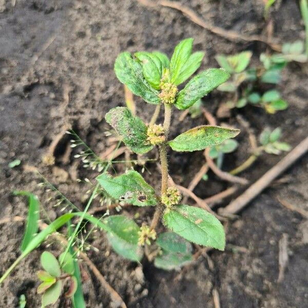
[(177, 96), (175, 106), (187, 109), (210, 91), (226, 82), (230, 75), (221, 68), (210, 68), (192, 78)]

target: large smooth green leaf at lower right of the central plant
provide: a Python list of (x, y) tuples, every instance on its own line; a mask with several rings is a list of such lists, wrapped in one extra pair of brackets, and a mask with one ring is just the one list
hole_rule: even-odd
[(167, 208), (163, 223), (190, 242), (224, 250), (225, 234), (222, 224), (202, 208), (188, 205)]

